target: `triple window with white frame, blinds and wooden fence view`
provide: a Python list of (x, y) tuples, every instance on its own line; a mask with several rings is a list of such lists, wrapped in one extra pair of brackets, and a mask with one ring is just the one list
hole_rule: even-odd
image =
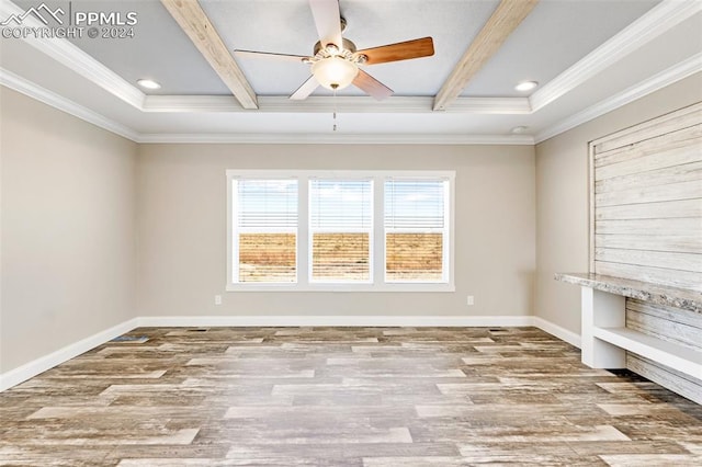
[(227, 289), (453, 291), (453, 180), (227, 171)]

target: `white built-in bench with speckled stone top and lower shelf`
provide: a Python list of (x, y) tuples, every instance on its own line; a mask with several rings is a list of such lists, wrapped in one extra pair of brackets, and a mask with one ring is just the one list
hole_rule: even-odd
[[(581, 355), (592, 368), (626, 367), (626, 351), (702, 379), (702, 350), (626, 328), (626, 297), (700, 315), (702, 293), (600, 274), (556, 274), (581, 286)], [(702, 337), (701, 337), (702, 341)]]

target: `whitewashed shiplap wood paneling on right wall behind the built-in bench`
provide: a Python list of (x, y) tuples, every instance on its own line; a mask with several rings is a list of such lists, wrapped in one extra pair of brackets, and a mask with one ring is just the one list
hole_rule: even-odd
[[(590, 269), (702, 292), (702, 103), (590, 145)], [(702, 316), (626, 299), (626, 327), (702, 352)], [(630, 353), (630, 369), (702, 403), (702, 380)]]

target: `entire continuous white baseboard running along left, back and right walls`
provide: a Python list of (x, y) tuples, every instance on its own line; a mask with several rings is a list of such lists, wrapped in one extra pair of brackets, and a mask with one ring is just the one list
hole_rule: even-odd
[(0, 392), (47, 369), (73, 358), (90, 349), (140, 327), (466, 327), (499, 328), (534, 326), (577, 348), (580, 337), (535, 316), (150, 316), (128, 321), (98, 332), (73, 344), (0, 374)]

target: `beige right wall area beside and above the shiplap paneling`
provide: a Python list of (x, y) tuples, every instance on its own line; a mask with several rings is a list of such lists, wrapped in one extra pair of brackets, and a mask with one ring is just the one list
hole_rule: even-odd
[(588, 271), (588, 143), (701, 100), (698, 73), (536, 146), (536, 316), (580, 333), (580, 291), (553, 274)]

